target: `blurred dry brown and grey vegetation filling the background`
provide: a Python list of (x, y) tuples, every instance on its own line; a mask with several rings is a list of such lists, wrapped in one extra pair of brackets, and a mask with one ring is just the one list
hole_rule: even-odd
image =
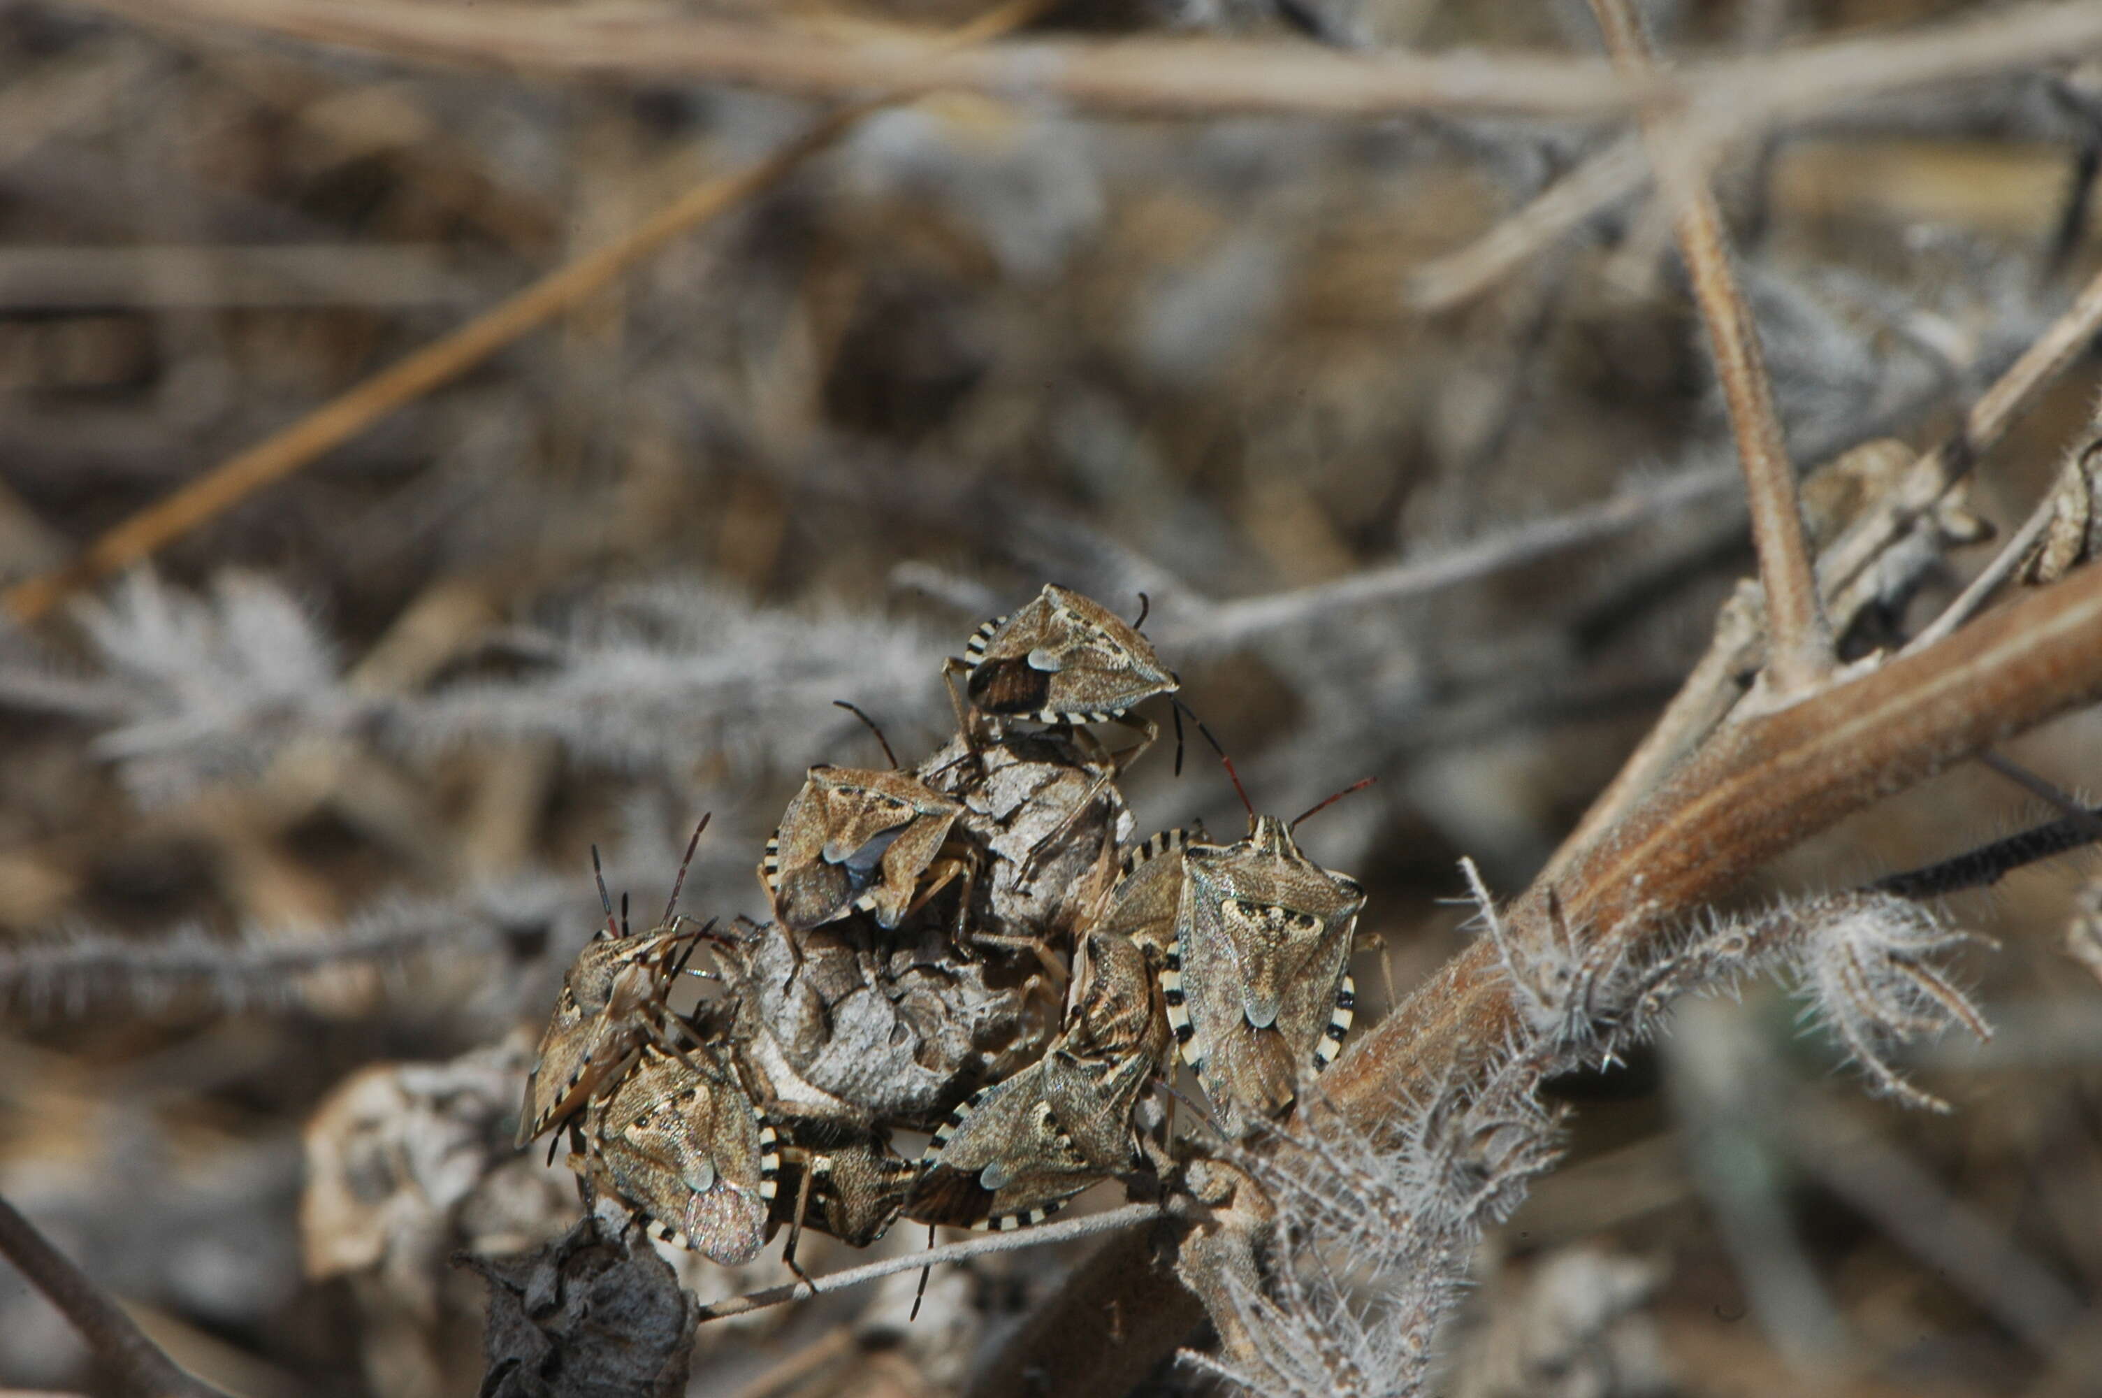
[[(250, 8), (267, 27), (271, 0)], [(570, 6), (471, 13), (511, 8)], [(870, 44), (973, 8), (666, 6)], [(1648, 6), (1669, 50), (1722, 57), (1980, 13)], [(1566, 0), (1093, 2), (1038, 29), (1598, 50)], [(0, 580), (822, 111), (0, 4)], [(473, 1392), (481, 1282), (450, 1253), (532, 1247), (576, 1209), (559, 1165), (511, 1154), (507, 1116), (519, 1032), (595, 927), (589, 845), (654, 906), (715, 811), (685, 906), (761, 912), (753, 866), (803, 767), (877, 757), (830, 702), (914, 761), (948, 727), (942, 656), (1045, 580), (1127, 616), (1148, 595), (1261, 807), (1379, 778), (1307, 828), (1371, 889), (1356, 978), (1377, 1013), (1471, 936), (1457, 860), (1524, 887), (1751, 572), (1640, 164), (1566, 233), (1480, 275), (1448, 261), (1616, 137), (895, 105), (13, 626), (0, 1194), (227, 1387)], [(2102, 74), (2070, 63), (1732, 145), (1717, 187), (1801, 465), (1951, 427), (2096, 271), (2098, 149)], [(2091, 393), (2081, 366), (1963, 509), (2022, 519)], [(2081, 786), (2102, 727), (2012, 755)], [(1160, 748), (1127, 786), (1141, 832), (1238, 830), (1209, 753), (1171, 765)], [(1955, 772), (1747, 898), (2037, 814)], [(1570, 1165), (1484, 1247), (1448, 1392), (2102, 1392), (2060, 1354), (2102, 1287), (2102, 986), (2066, 950), (2102, 919), (2091, 870), (1955, 904), (1999, 940), (1963, 961), (1999, 1032), (1913, 1055), (1953, 1116), (1862, 1099), (1764, 984), (1564, 1083)], [(694, 1392), (948, 1392), (1068, 1261), (946, 1272), (912, 1327), (910, 1276), (710, 1327)], [(776, 1280), (685, 1278), (704, 1299)], [(92, 1387), (13, 1272), (0, 1383)]]

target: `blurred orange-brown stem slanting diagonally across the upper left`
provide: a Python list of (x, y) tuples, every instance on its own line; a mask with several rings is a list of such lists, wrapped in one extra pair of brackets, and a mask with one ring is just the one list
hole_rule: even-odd
[[(952, 32), (946, 42), (982, 42), (1026, 23), (1040, 8), (1043, 0), (1019, 0), (996, 6), (988, 15)], [(618, 275), (662, 250), (679, 235), (778, 183), (887, 101), (891, 99), (843, 107), (759, 164), (696, 185), (624, 238), (534, 282), (452, 334), (425, 345), (408, 359), (374, 374), (349, 393), (309, 412), (298, 423), (189, 481), (168, 498), (139, 511), (88, 544), (65, 568), (6, 589), (0, 593), (0, 608), (23, 624), (42, 620), (53, 605), (76, 589), (139, 563), (256, 490), (292, 475), (324, 452), (343, 446), (397, 408), (452, 383), (530, 330), (582, 305)]]

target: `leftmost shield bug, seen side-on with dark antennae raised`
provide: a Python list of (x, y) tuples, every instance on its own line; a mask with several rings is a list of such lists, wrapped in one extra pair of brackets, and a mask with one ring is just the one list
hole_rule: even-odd
[(664, 921), (631, 936), (614, 921), (614, 902), (599, 872), (599, 851), (591, 851), (591, 868), (599, 883), (599, 904), (605, 908), (605, 931), (595, 936), (561, 980), (555, 1013), (540, 1036), (540, 1053), (526, 1076), (526, 1102), (519, 1110), (517, 1144), (534, 1139), (561, 1118), (580, 1110), (593, 1093), (616, 1083), (635, 1062), (643, 1043), (664, 1041), (664, 994), (681, 969), (679, 957), (708, 936), (704, 925), (679, 919), (679, 887), (700, 832), (685, 847), (679, 879), (673, 883)]

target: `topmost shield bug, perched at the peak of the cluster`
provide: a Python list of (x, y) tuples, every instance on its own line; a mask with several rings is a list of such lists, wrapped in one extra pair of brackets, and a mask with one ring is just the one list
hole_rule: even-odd
[[(1143, 614), (1139, 620), (1146, 620)], [(1152, 746), (1158, 725), (1127, 711), (1156, 694), (1175, 694), (1175, 673), (1160, 664), (1139, 629), (1099, 601), (1047, 582), (1028, 605), (996, 616), (965, 643), (963, 696), (994, 717), (1038, 723), (1125, 723), (1139, 744), (1118, 769)], [(952, 690), (954, 694), (954, 690)], [(961, 704), (959, 704), (961, 708)], [(965, 732), (971, 729), (963, 723)]]

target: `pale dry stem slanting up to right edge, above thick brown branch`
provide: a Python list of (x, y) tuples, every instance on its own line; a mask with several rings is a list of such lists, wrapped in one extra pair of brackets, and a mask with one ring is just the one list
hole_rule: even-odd
[(1890, 498), (1856, 519), (1818, 557), (1818, 582), (1833, 593), (1852, 582), (1883, 549), (1925, 515), (1963, 479), (1972, 465), (1999, 441), (2020, 414), (2070, 366), (2087, 353), (2102, 330), (2102, 275), (2096, 275), (2073, 305), (2022, 351), (2005, 374), (1986, 389), (1963, 416), (1963, 429), (1913, 462)]

